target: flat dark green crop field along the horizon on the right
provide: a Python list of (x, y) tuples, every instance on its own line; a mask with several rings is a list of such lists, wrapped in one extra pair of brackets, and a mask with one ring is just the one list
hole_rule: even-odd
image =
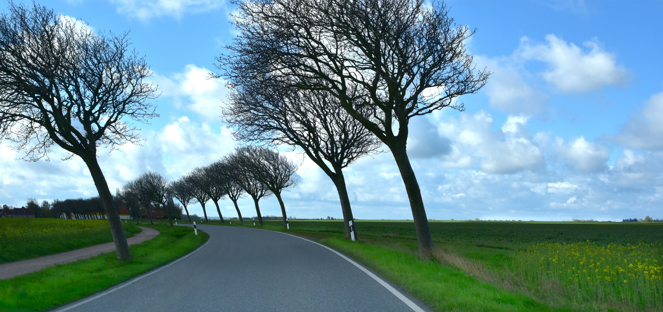
[[(233, 225), (239, 221), (233, 221)], [(253, 225), (244, 221), (245, 225)], [(209, 224), (220, 224), (210, 221)], [(225, 221), (227, 225), (228, 222)], [(282, 228), (283, 221), (265, 221), (265, 227)], [(412, 221), (357, 220), (357, 234), (386, 238), (416, 239)], [(341, 220), (294, 220), (293, 231), (344, 233)], [(642, 222), (530, 222), (530, 221), (430, 221), (435, 242), (472, 244), (481, 247), (516, 249), (540, 242), (597, 242), (639, 244), (663, 241), (663, 223)]]

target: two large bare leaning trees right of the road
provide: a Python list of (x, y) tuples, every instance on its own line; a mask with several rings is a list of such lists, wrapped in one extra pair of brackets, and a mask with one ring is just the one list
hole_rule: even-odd
[(238, 36), (217, 57), (233, 91), (225, 117), (235, 136), (299, 146), (337, 187), (349, 235), (342, 169), (385, 144), (410, 199), (419, 252), (433, 240), (406, 149), (413, 117), (477, 92), (476, 70), (441, 1), (236, 0)]

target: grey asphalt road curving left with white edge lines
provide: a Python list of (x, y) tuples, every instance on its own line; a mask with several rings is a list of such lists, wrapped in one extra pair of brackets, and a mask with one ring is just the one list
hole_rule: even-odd
[(210, 240), (185, 258), (54, 311), (431, 311), (316, 242), (242, 227), (198, 229)]

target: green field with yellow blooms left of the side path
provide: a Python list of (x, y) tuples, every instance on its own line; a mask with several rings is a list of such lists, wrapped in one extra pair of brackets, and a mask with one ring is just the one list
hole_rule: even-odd
[[(127, 237), (140, 233), (122, 223)], [(112, 242), (106, 220), (0, 218), (0, 264)]]

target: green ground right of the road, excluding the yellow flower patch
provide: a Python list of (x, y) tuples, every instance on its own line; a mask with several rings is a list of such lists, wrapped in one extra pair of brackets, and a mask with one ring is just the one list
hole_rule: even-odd
[[(432, 221), (435, 260), (416, 256), (412, 221), (356, 221), (361, 242), (339, 235), (343, 233), (341, 221), (290, 221), (290, 230), (282, 224), (265, 221), (261, 228), (311, 238), (350, 254), (438, 311), (660, 310), (660, 299), (653, 302), (652, 296), (638, 305), (615, 293), (613, 298), (591, 292), (578, 296), (578, 291), (562, 289), (558, 280), (540, 278), (542, 274), (534, 266), (526, 269), (531, 275), (527, 276), (512, 265), (519, 250), (546, 242), (589, 240), (593, 246), (658, 243), (663, 225), (657, 223)], [(240, 225), (233, 221), (233, 226)], [(253, 227), (253, 223), (245, 221), (243, 226)], [(659, 286), (646, 289), (660, 292)]]

